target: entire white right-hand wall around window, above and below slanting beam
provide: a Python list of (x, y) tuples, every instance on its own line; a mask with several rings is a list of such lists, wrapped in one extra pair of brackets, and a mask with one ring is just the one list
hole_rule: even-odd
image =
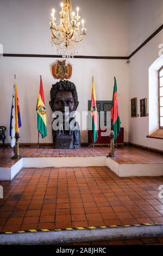
[[(129, 48), (135, 50), (162, 24), (163, 1), (138, 0), (129, 1)], [(148, 117), (130, 117), (130, 99), (137, 97), (137, 112), (140, 114), (140, 99), (147, 97), (147, 113), (149, 111), (148, 69), (159, 57), (159, 44), (163, 42), (163, 32), (159, 32), (151, 41), (141, 48), (129, 64), (129, 141), (163, 150), (161, 139), (147, 138), (149, 134)], [(163, 63), (162, 63), (163, 65)]]

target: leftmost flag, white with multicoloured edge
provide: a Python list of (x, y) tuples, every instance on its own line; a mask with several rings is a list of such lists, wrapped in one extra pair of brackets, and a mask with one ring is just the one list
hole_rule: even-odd
[(18, 94), (17, 94), (17, 85), (16, 79), (14, 81), (14, 88), (12, 94), (12, 105), (11, 105), (11, 116), (10, 116), (10, 137), (11, 137), (11, 147), (15, 146), (15, 132), (19, 132), (19, 128), (22, 126), (21, 124), (21, 116), (20, 116), (20, 107), (18, 104)]

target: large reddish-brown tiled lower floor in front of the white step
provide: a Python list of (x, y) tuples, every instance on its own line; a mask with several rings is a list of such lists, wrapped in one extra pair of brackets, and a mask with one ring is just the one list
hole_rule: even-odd
[(163, 176), (120, 178), (108, 167), (23, 168), (0, 185), (1, 232), (163, 224)]

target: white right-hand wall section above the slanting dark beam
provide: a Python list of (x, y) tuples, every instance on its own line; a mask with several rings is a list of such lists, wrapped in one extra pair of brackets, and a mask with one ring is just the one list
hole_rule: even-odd
[(162, 10), (162, 0), (129, 0), (129, 53), (162, 25)]

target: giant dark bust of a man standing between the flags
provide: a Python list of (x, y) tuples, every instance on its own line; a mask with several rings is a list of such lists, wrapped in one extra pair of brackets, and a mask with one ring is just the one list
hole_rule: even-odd
[(52, 85), (49, 105), (56, 115), (52, 121), (53, 145), (57, 149), (80, 148), (80, 131), (72, 113), (78, 107), (74, 83), (64, 80)]

